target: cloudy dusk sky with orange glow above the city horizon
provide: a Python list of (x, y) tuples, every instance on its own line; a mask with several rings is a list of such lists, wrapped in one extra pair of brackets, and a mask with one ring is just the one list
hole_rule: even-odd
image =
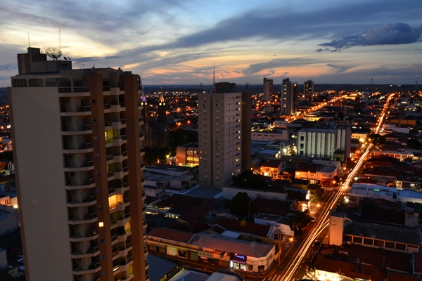
[[(0, 1), (0, 86), (17, 53), (59, 47), (74, 68), (143, 84), (422, 84), (421, 0)], [(220, 78), (221, 77), (221, 78)]]

